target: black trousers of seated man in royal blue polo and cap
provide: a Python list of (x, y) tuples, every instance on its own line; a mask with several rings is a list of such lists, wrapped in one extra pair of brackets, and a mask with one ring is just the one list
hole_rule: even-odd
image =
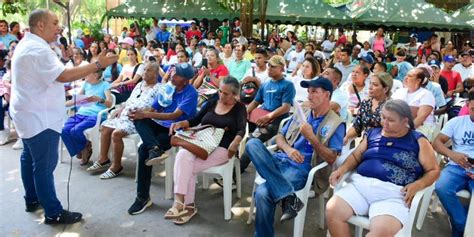
[(148, 151), (154, 146), (166, 151), (171, 148), (169, 128), (155, 123), (151, 119), (136, 120), (134, 122), (142, 144), (138, 148), (137, 197), (144, 201), (150, 197), (151, 172), (153, 167), (145, 165)]

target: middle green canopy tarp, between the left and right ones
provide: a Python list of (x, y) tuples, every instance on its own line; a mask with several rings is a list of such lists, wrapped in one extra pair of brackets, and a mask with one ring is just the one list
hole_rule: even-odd
[[(258, 0), (254, 0), (258, 3)], [(254, 19), (258, 20), (258, 12)], [(304, 25), (345, 25), (351, 19), (322, 0), (268, 0), (267, 22)]]

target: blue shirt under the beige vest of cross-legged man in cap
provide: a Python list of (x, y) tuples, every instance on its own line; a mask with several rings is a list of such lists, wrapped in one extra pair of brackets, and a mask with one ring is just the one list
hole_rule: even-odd
[[(319, 124), (323, 121), (325, 116), (320, 116), (317, 118), (313, 117), (313, 113), (310, 113), (307, 119), (307, 122), (313, 127), (313, 132), (316, 134), (319, 128)], [(290, 127), (290, 124), (293, 122), (293, 117), (290, 119), (288, 123), (281, 129), (280, 134), (283, 136), (286, 135), (288, 132), (288, 128)], [(321, 135), (324, 137), (327, 135), (329, 128), (323, 127), (321, 129)], [(334, 135), (331, 137), (329, 140), (328, 146), (329, 149), (336, 151), (336, 152), (341, 152), (342, 151), (342, 146), (343, 146), (343, 140), (344, 136), (346, 135), (346, 125), (344, 123), (341, 123), (337, 128), (336, 131), (334, 132)], [(290, 163), (294, 166), (300, 166), (300, 168), (306, 170), (309, 172), (311, 170), (311, 159), (313, 157), (313, 146), (311, 143), (303, 136), (300, 134), (300, 136), (296, 139), (295, 143), (293, 144), (293, 148), (298, 150), (303, 156), (304, 156), (304, 161), (303, 163), (298, 163), (288, 157), (288, 155), (283, 152), (279, 151), (275, 153), (275, 156), (281, 159), (288, 159)]]

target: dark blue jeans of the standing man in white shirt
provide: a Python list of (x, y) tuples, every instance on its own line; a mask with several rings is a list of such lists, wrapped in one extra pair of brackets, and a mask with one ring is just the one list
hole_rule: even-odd
[(47, 217), (55, 217), (63, 210), (53, 176), (58, 163), (59, 136), (58, 132), (46, 129), (32, 138), (22, 139), (20, 165), (25, 202), (39, 201)]

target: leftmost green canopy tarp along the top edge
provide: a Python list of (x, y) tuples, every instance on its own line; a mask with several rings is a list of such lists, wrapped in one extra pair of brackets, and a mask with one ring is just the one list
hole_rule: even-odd
[(232, 19), (238, 15), (215, 0), (127, 0), (107, 12), (120, 18)]

